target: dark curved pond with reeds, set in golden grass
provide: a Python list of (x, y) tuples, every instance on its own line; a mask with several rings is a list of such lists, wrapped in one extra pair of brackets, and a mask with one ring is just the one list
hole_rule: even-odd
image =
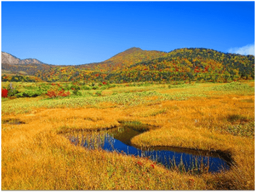
[(150, 126), (123, 125), (121, 127), (104, 131), (73, 131), (65, 133), (65, 137), (75, 145), (81, 145), (87, 149), (103, 149), (117, 151), (127, 155), (148, 157), (161, 163), (167, 169), (178, 167), (181, 171), (193, 171), (211, 173), (230, 169), (231, 157), (221, 151), (199, 151), (179, 147), (149, 147), (139, 149), (131, 144), (131, 138), (149, 129)]

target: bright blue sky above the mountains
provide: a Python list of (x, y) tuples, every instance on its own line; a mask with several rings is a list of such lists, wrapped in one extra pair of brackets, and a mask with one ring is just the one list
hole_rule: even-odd
[(131, 47), (254, 55), (255, 1), (1, 1), (1, 51), (20, 59), (79, 65)]

